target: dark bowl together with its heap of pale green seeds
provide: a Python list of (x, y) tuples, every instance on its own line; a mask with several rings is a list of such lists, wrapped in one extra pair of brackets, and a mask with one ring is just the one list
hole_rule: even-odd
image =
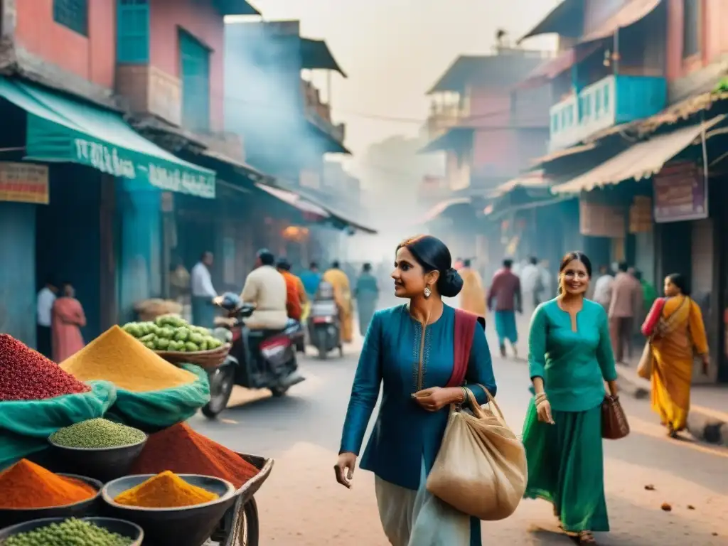
[(88, 419), (48, 438), (64, 472), (107, 482), (129, 473), (146, 443), (141, 430), (108, 419)]

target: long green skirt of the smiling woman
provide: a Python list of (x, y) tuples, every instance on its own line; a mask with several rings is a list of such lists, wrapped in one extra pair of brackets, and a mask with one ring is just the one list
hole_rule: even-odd
[(529, 464), (525, 496), (552, 503), (564, 531), (609, 531), (601, 407), (552, 414), (555, 424), (539, 422), (531, 399), (523, 424)]

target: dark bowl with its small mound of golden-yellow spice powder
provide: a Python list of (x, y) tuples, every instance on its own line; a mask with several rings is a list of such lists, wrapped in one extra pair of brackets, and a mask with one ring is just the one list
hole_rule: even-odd
[[(105, 514), (137, 523), (155, 546), (202, 546), (240, 491), (220, 478), (166, 471), (113, 480), (101, 496)], [(169, 506), (188, 501), (196, 504)]]

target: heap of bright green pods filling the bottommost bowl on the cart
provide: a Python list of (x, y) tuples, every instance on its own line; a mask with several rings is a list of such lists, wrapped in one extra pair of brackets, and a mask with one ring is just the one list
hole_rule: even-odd
[(132, 539), (74, 518), (5, 539), (2, 546), (129, 546)]

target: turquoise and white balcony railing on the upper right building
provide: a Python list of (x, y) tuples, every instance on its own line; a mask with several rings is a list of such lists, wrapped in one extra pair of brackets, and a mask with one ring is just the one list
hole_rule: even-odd
[(616, 124), (653, 116), (667, 106), (657, 76), (606, 76), (550, 108), (549, 150), (567, 148)]

